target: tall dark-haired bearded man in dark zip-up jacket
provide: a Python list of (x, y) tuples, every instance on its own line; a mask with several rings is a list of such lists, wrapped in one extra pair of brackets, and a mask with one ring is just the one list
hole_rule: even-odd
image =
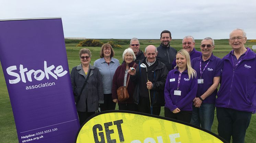
[(170, 46), (171, 40), (171, 32), (168, 30), (164, 30), (160, 34), (161, 44), (159, 47), (157, 47), (157, 58), (165, 64), (168, 71), (171, 71), (173, 69), (172, 62), (177, 54), (177, 50)]

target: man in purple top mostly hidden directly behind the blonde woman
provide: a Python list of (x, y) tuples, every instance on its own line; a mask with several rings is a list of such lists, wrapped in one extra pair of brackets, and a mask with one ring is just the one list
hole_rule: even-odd
[[(195, 49), (195, 39), (192, 36), (185, 36), (182, 40), (182, 48), (187, 50), (190, 56), (190, 60), (192, 61), (194, 58), (202, 56), (202, 53), (199, 51), (196, 51)], [(173, 68), (176, 66), (176, 60), (173, 60), (172, 62)]]

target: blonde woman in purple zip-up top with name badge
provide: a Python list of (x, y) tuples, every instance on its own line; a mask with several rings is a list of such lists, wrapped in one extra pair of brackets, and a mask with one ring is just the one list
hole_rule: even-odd
[(196, 71), (191, 67), (189, 53), (185, 49), (176, 54), (176, 64), (165, 82), (164, 116), (190, 123), (197, 92)]

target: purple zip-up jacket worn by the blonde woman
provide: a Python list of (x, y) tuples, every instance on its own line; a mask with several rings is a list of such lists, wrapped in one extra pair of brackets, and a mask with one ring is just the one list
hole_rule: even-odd
[(197, 77), (188, 79), (188, 72), (185, 70), (181, 74), (179, 89), (181, 95), (174, 95), (177, 90), (179, 71), (178, 68), (171, 70), (166, 78), (164, 87), (165, 107), (171, 111), (179, 108), (181, 111), (192, 111), (193, 99), (197, 92)]

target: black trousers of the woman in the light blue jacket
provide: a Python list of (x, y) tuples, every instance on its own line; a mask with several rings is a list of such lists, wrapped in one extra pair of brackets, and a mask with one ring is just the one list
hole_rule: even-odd
[(116, 103), (113, 102), (112, 94), (104, 94), (104, 103), (101, 104), (101, 111), (115, 110)]

